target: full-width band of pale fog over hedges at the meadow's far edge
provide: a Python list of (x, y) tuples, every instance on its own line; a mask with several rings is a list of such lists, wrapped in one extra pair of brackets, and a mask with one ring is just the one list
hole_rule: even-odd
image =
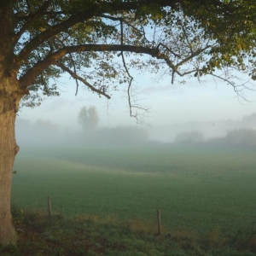
[[(78, 125), (79, 127), (79, 125)], [(21, 149), (172, 144), (256, 146), (256, 113), (241, 119), (188, 122), (174, 125), (95, 125), (93, 129), (61, 127), (48, 119), (16, 119)], [(87, 129), (87, 130), (86, 130)]]

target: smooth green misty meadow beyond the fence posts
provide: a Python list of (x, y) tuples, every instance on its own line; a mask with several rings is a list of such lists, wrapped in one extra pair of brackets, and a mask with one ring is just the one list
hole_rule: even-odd
[(54, 148), (20, 152), (12, 202), (64, 216), (93, 214), (168, 230), (236, 233), (256, 224), (255, 150)]

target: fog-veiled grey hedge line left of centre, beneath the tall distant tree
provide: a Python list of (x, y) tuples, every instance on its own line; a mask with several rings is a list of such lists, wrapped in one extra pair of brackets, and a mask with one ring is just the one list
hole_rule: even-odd
[(16, 140), (20, 148), (58, 148), (140, 145), (147, 143), (148, 131), (139, 126), (98, 127), (94, 131), (62, 128), (49, 120), (16, 119)]

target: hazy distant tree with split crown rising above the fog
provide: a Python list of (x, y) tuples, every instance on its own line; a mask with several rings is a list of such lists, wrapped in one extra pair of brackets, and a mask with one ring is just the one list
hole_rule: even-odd
[(84, 131), (96, 131), (96, 126), (99, 123), (98, 113), (95, 106), (90, 108), (81, 108), (79, 112), (79, 125), (82, 126)]

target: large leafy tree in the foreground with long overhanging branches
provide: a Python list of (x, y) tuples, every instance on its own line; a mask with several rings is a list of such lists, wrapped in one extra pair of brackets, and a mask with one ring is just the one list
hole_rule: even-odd
[[(10, 189), (20, 101), (58, 95), (55, 79), (110, 98), (131, 67), (178, 77), (212, 75), (243, 96), (236, 69), (256, 78), (254, 0), (0, 0), (0, 243), (15, 242)], [(143, 57), (148, 55), (150, 58)], [(144, 109), (147, 111), (147, 109)]]

